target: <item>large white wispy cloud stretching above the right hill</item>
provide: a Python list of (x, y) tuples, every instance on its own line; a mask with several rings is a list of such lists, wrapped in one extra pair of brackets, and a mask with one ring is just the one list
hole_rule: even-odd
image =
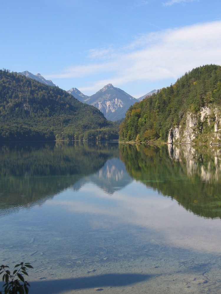
[[(204, 64), (220, 64), (221, 21), (138, 36), (121, 48), (93, 49), (86, 65), (47, 78), (91, 78), (81, 91), (98, 91), (106, 83), (121, 87), (136, 81), (176, 80)], [(90, 79), (91, 80), (91, 79)]]

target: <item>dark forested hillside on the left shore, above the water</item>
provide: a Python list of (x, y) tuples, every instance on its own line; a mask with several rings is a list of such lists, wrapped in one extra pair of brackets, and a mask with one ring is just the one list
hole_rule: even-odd
[(0, 140), (110, 140), (118, 127), (66, 91), (0, 70)]

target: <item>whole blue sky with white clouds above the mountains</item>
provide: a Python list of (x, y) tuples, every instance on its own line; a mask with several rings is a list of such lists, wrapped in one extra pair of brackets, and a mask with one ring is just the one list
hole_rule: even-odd
[(0, 68), (135, 98), (221, 65), (221, 1), (0, 0)]

